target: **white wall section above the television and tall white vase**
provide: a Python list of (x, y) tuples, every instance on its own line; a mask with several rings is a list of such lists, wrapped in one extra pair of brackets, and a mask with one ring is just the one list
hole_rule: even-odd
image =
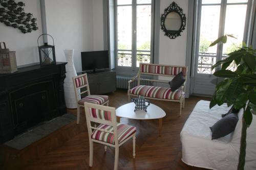
[(56, 61), (63, 50), (75, 49), (74, 64), (81, 71), (81, 52), (103, 50), (102, 0), (45, 0), (47, 33), (55, 40)]

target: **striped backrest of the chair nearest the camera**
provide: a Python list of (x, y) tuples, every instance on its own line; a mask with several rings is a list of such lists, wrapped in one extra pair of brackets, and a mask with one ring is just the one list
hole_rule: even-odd
[[(92, 135), (92, 130), (109, 132), (114, 134), (115, 143), (118, 143), (118, 135), (116, 135), (117, 134), (116, 109), (114, 107), (97, 105), (92, 103), (84, 103), (84, 109), (86, 111), (86, 121), (87, 121), (89, 136)], [(104, 129), (92, 127), (91, 122), (112, 126), (113, 131), (107, 131)]]

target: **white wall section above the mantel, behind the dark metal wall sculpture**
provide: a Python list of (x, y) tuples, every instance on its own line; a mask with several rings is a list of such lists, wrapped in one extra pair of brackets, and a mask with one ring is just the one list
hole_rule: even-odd
[(25, 65), (39, 62), (37, 38), (42, 33), (40, 1), (22, 0), (26, 4), (24, 11), (32, 13), (37, 18), (39, 30), (31, 33), (22, 33), (19, 29), (7, 27), (0, 22), (0, 41), (6, 42), (11, 51), (16, 51), (17, 65)]

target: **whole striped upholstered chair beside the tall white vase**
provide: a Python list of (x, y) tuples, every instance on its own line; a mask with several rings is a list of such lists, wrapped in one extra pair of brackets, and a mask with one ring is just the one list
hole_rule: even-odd
[[(91, 95), (89, 83), (87, 79), (87, 74), (82, 74), (73, 78), (76, 102), (77, 102), (77, 124), (80, 121), (80, 108), (84, 107), (83, 103), (94, 103), (98, 105), (109, 106), (109, 96), (108, 95)], [(81, 88), (86, 88), (84, 91), (80, 91)], [(81, 99), (81, 94), (87, 93), (88, 95)]]

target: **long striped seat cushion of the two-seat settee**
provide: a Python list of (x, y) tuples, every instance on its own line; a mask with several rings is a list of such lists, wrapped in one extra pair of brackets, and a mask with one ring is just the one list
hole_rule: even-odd
[(148, 98), (180, 100), (184, 92), (179, 89), (172, 91), (170, 88), (166, 87), (140, 85), (132, 88), (130, 94), (143, 95)]

